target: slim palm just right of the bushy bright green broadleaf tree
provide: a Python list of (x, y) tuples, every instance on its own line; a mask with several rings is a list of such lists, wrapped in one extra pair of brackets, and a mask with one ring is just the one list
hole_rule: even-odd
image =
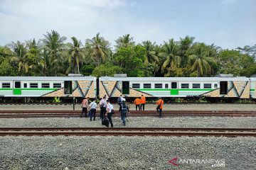
[(155, 46), (156, 42), (152, 44), (152, 42), (149, 40), (142, 41), (142, 47), (146, 49), (146, 60), (144, 62), (145, 64), (152, 64), (155, 61), (159, 62), (159, 57), (156, 56)]

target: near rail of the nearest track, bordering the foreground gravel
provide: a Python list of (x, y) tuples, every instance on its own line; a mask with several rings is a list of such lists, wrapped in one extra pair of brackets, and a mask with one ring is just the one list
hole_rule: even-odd
[(215, 137), (256, 137), (256, 133), (242, 132), (100, 132), (100, 131), (85, 131), (85, 132), (0, 132), (0, 136), (45, 136), (45, 135), (65, 135), (65, 136), (215, 136)]

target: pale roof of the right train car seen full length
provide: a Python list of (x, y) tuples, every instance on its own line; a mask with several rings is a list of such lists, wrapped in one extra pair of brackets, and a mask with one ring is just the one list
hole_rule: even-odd
[(100, 77), (100, 81), (249, 81), (247, 77)]

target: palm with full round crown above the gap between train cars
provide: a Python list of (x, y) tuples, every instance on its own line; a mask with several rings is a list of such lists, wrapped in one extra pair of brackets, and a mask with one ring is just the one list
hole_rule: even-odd
[(86, 40), (85, 49), (87, 50), (87, 55), (97, 62), (97, 66), (100, 65), (101, 60), (105, 62), (111, 53), (110, 42), (100, 37), (100, 33), (97, 33), (92, 40)]

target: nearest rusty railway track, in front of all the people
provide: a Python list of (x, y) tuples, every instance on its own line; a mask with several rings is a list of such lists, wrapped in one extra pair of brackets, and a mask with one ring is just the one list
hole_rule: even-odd
[(256, 128), (0, 128), (6, 135), (256, 137)]

